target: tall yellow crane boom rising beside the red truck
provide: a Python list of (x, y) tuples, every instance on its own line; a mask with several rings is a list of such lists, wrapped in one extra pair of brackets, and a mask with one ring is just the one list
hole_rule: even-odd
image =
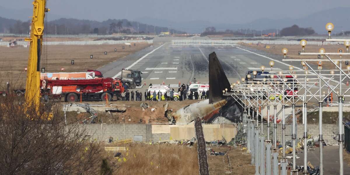
[(31, 20), (30, 38), (25, 41), (30, 43), (27, 84), (25, 99), (27, 105), (40, 105), (40, 57), (42, 50), (45, 13), (50, 9), (46, 8), (46, 0), (33, 1), (33, 18)]

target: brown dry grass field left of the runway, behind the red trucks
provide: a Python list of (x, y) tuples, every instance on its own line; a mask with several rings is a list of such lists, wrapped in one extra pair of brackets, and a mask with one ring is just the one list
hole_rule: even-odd
[[(148, 43), (137, 43), (128, 47), (125, 44), (114, 45), (48, 45), (47, 57), (43, 50), (42, 65), (46, 72), (57, 72), (64, 68), (66, 72), (86, 71), (97, 69), (116, 59), (132, 54), (148, 47)], [(125, 49), (122, 47), (125, 46)], [(117, 49), (117, 52), (114, 49)], [(107, 51), (107, 55), (104, 52)], [(29, 48), (24, 47), (0, 47), (0, 87), (6, 82), (11, 82), (13, 87), (24, 87), (26, 80), (25, 68), (28, 64)], [(93, 59), (90, 59), (93, 55)], [(71, 65), (74, 60), (74, 65)], [(2, 88), (0, 88), (2, 89)]]

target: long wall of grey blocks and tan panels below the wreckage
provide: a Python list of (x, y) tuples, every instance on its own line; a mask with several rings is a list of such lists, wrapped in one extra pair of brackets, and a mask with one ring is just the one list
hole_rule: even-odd
[[(86, 134), (100, 141), (109, 137), (114, 140), (140, 139), (148, 142), (160, 140), (181, 140), (195, 137), (193, 124), (188, 125), (151, 125), (151, 124), (86, 124)], [(205, 124), (203, 125), (204, 137), (208, 141), (222, 140), (230, 141), (236, 136), (237, 129), (232, 124)]]

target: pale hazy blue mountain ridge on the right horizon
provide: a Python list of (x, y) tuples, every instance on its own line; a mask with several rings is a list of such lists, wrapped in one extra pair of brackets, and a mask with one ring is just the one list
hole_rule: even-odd
[(231, 23), (212, 23), (208, 21), (187, 21), (176, 22), (166, 19), (155, 18), (137, 18), (137, 21), (143, 21), (152, 25), (170, 26), (170, 28), (181, 29), (188, 33), (202, 33), (206, 27), (214, 26), (217, 30), (224, 31), (225, 29), (237, 30), (237, 29), (250, 29), (264, 30), (264, 29), (282, 29), (290, 27), (292, 25), (298, 25), (299, 27), (311, 27), (318, 34), (327, 34), (325, 30), (325, 24), (332, 22), (335, 25), (335, 32), (342, 30), (350, 30), (350, 15), (348, 12), (350, 7), (337, 7), (328, 10), (322, 10), (320, 12), (309, 14), (303, 18), (292, 19), (268, 19), (260, 18), (251, 22), (242, 24)]

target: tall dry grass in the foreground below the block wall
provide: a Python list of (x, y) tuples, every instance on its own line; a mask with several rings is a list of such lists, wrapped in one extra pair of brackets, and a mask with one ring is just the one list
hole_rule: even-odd
[[(110, 145), (107, 145), (110, 146)], [(118, 145), (128, 149), (122, 158), (114, 158), (114, 153), (105, 153), (108, 157), (112, 174), (152, 174), (152, 175), (195, 175), (199, 174), (197, 145), (192, 147), (180, 144), (126, 144)], [(211, 147), (216, 152), (225, 152), (228, 156), (208, 155), (209, 172), (212, 175), (237, 174), (253, 175), (254, 167), (250, 164), (250, 155), (244, 154), (241, 147)], [(125, 159), (124, 159), (125, 158)], [(120, 159), (120, 160), (118, 160)]]

